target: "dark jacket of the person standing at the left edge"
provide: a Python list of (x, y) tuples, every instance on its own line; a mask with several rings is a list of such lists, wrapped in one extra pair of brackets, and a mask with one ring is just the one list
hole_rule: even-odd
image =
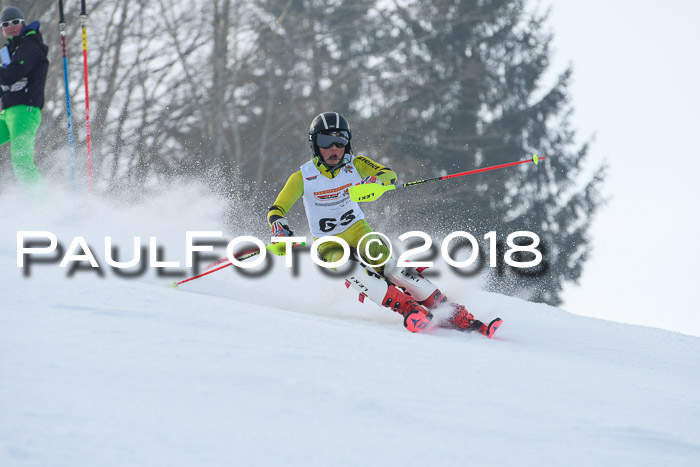
[(49, 48), (41, 38), (39, 22), (26, 25), (17, 37), (9, 37), (6, 45), (11, 62), (0, 68), (2, 107), (29, 105), (43, 108)]

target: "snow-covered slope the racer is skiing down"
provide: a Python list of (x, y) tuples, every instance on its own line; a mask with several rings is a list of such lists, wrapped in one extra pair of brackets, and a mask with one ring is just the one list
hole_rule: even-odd
[(497, 337), (410, 334), (303, 258), (296, 276), (276, 259), (260, 277), (227, 269), (180, 290), (56, 264), (23, 278), (17, 230), (91, 245), (148, 232), (180, 248), (186, 229), (222, 228), (204, 202), (102, 203), (81, 218), (10, 201), (2, 466), (700, 465), (698, 338), (446, 275), (478, 317), (504, 319)]

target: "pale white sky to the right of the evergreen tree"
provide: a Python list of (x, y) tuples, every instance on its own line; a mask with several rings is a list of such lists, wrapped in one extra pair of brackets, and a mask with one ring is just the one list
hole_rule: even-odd
[(572, 123), (610, 165), (593, 258), (564, 309), (700, 336), (700, 2), (544, 0)]

